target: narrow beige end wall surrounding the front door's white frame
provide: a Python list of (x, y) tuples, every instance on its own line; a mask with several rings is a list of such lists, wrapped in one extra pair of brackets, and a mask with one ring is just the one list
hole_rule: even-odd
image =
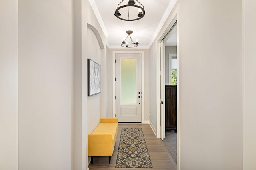
[(149, 81), (150, 81), (150, 68), (149, 68), (149, 49), (108, 49), (108, 117), (113, 114), (113, 67), (112, 67), (112, 53), (113, 51), (144, 51), (144, 121), (149, 121)]

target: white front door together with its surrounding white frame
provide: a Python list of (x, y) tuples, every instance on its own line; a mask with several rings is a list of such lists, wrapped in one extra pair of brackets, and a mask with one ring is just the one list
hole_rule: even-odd
[[(123, 68), (128, 62), (132, 68)], [(127, 63), (124, 65), (127, 66)], [(144, 121), (144, 51), (113, 51), (112, 53), (113, 115), (119, 123), (145, 123)], [(127, 79), (123, 79), (126, 72)], [(134, 76), (131, 77), (131, 72)], [(117, 79), (116, 79), (117, 78)], [(131, 88), (131, 82), (134, 86)], [(122, 86), (123, 84), (123, 86)], [(128, 89), (125, 89), (128, 88)], [(126, 93), (127, 90), (130, 93)]]

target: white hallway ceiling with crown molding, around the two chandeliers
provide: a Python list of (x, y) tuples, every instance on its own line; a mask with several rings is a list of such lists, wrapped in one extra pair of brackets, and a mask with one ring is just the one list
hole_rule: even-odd
[[(177, 0), (139, 0), (144, 6), (145, 16), (136, 21), (124, 21), (114, 16), (116, 6), (121, 1), (89, 0), (107, 37), (109, 48), (123, 48), (120, 45), (123, 38), (127, 36), (127, 30), (133, 31), (131, 37), (134, 42), (138, 39), (139, 45), (136, 48), (149, 48)], [(124, 0), (122, 4), (127, 3), (128, 0)], [(136, 5), (138, 5), (137, 2)]]

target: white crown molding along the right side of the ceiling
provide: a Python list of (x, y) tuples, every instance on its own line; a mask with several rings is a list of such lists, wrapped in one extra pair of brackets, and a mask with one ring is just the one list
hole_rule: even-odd
[(148, 43), (148, 47), (150, 47), (152, 45), (152, 43), (154, 42), (154, 40), (156, 39), (156, 36), (159, 34), (161, 28), (163, 27), (164, 23), (166, 22), (166, 19), (168, 18), (168, 16), (170, 15), (170, 13), (172, 12), (172, 9), (174, 7), (174, 5), (176, 4), (177, 0), (172, 0), (169, 2), (163, 17), (161, 18), (156, 31), (154, 32), (152, 39), (150, 40), (150, 42)]

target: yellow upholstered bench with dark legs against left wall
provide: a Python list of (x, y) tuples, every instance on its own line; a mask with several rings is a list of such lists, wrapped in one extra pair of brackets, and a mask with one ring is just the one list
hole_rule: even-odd
[(88, 156), (108, 156), (110, 164), (113, 155), (116, 136), (117, 136), (117, 118), (100, 118), (99, 125), (91, 134), (88, 134)]

